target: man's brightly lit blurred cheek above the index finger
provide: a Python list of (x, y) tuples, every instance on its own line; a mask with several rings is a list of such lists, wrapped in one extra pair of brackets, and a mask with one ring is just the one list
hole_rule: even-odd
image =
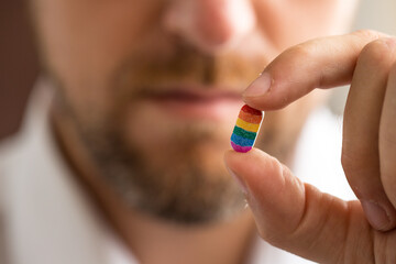
[(257, 0), (263, 34), (283, 51), (309, 38), (340, 34), (349, 29), (356, 0)]

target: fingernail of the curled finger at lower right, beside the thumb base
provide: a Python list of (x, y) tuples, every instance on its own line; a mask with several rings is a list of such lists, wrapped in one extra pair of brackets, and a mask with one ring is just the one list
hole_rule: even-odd
[(376, 201), (361, 200), (363, 210), (370, 224), (377, 230), (386, 230), (391, 224), (386, 210)]

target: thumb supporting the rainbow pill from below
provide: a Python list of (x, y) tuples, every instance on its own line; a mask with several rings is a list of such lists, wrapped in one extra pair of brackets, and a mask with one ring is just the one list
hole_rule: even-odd
[(242, 185), (260, 235), (271, 244), (316, 262), (342, 263), (345, 249), (370, 240), (359, 202), (320, 193), (256, 148), (229, 151), (224, 161)]

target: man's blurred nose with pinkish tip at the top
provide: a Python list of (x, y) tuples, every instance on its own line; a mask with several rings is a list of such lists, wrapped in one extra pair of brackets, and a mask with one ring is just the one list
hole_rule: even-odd
[(168, 31), (209, 53), (238, 43), (255, 23), (251, 0), (174, 0), (164, 16)]

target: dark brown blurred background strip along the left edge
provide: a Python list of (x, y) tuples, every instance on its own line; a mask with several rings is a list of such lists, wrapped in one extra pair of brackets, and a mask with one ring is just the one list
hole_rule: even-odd
[(0, 1), (0, 139), (20, 124), (38, 63), (25, 0)]

